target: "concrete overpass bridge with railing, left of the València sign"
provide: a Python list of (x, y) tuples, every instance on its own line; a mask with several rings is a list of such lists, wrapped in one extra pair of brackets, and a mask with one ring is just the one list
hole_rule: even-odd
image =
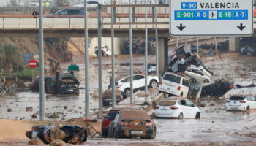
[[(102, 37), (111, 37), (111, 5), (102, 9)], [(132, 35), (144, 37), (145, 25), (148, 27), (148, 37), (154, 37), (155, 23), (158, 36), (170, 37), (169, 6), (167, 4), (131, 4), (114, 5), (115, 37), (129, 37), (129, 7), (132, 10)], [(147, 7), (147, 23), (145, 23), (145, 7)], [(79, 9), (79, 8), (78, 8)], [(157, 14), (155, 14), (155, 10)], [(157, 20), (155, 16), (157, 15)], [(43, 28), (45, 37), (84, 37), (83, 15), (44, 15)], [(255, 19), (256, 23), (256, 19)], [(37, 37), (39, 19), (31, 15), (0, 15), (0, 37)], [(89, 11), (89, 37), (97, 37), (97, 12)], [(256, 25), (255, 25), (256, 29)], [(253, 34), (256, 37), (256, 34)]]

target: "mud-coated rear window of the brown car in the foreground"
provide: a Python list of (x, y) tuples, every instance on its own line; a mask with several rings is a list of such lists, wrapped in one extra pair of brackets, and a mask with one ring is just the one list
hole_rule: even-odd
[(148, 114), (138, 110), (124, 110), (121, 112), (120, 119), (145, 119), (150, 120)]

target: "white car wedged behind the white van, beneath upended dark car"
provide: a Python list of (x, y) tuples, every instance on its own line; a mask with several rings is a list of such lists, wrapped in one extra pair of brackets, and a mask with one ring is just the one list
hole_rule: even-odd
[(190, 77), (195, 77), (197, 82), (210, 82), (210, 77), (208, 77), (204, 72), (200, 71), (200, 69), (194, 67), (188, 67), (185, 71)]

